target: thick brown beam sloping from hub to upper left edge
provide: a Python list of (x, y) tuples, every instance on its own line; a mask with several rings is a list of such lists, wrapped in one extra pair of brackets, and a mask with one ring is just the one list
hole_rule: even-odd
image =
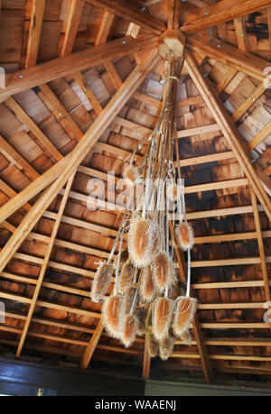
[(139, 39), (125, 37), (106, 44), (77, 51), (68, 56), (50, 60), (33, 68), (19, 70), (11, 75), (5, 89), (0, 89), (0, 103), (7, 97), (23, 90), (37, 87), (51, 80), (93, 68), (104, 60), (120, 59), (135, 51), (149, 51), (158, 46), (158, 37), (145, 36)]

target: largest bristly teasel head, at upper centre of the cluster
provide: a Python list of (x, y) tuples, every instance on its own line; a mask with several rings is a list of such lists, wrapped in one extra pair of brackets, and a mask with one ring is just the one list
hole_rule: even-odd
[(131, 220), (128, 233), (128, 251), (136, 267), (145, 267), (152, 260), (154, 247), (154, 223), (151, 220)]

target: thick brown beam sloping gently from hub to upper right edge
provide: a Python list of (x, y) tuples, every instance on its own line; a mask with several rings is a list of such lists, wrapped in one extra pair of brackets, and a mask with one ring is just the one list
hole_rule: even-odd
[(219, 60), (230, 68), (245, 73), (252, 78), (264, 81), (266, 75), (264, 69), (268, 66), (268, 61), (256, 55), (251, 55), (247, 51), (239, 51), (236, 47), (214, 39), (203, 41), (200, 36), (192, 35), (187, 38), (186, 45), (192, 51), (200, 51), (212, 59)]

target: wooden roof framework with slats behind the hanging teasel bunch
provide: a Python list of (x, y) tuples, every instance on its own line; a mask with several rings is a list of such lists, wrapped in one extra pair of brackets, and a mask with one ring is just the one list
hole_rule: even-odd
[[(185, 36), (178, 138), (200, 306), (192, 344), (162, 363), (144, 337), (126, 349), (106, 336), (89, 290), (121, 220), (107, 171), (121, 179), (162, 107), (166, 30)], [(2, 0), (1, 355), (271, 380), (269, 62), (271, 1)], [(105, 181), (106, 209), (89, 211), (90, 178)], [(181, 253), (179, 270), (185, 281)]]

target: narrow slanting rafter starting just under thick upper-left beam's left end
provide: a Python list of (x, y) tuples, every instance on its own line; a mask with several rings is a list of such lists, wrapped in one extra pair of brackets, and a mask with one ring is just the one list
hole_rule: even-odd
[(21, 122), (26, 125), (27, 128), (35, 135), (42, 148), (51, 153), (51, 155), (53, 155), (57, 161), (61, 160), (61, 152), (55, 148), (49, 138), (47, 138), (47, 136), (42, 133), (42, 130), (33, 122), (31, 117), (27, 115), (25, 111), (23, 111), (23, 108), (17, 104), (15, 99), (13, 97), (8, 97), (5, 103), (12, 109), (14, 114), (21, 120)]

